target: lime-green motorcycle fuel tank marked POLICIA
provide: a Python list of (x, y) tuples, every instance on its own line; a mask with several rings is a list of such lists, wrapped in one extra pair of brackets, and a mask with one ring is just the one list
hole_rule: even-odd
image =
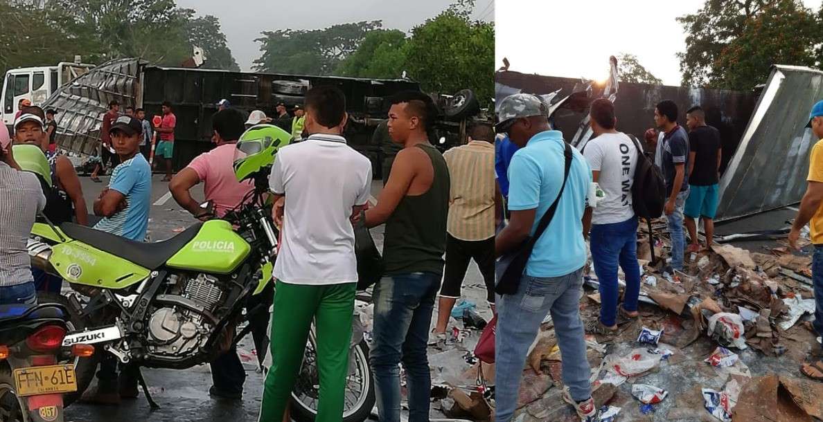
[(249, 256), (251, 249), (228, 221), (209, 220), (165, 265), (181, 270), (230, 274)]

